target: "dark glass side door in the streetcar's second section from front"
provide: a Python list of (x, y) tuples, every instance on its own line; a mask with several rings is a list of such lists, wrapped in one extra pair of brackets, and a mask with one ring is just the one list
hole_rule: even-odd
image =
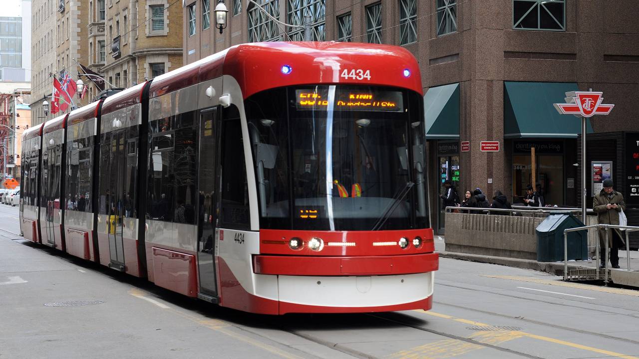
[(127, 165), (125, 153), (125, 133), (124, 130), (112, 132), (111, 143), (109, 145), (109, 208), (107, 209), (107, 236), (109, 238), (109, 255), (111, 261), (109, 267), (124, 270), (124, 244), (123, 225), (125, 203), (124, 179)]

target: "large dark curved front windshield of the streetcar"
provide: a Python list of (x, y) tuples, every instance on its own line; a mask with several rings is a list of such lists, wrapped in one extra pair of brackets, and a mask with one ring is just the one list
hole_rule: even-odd
[(246, 102), (260, 227), (427, 227), (421, 99), (376, 86), (278, 88)]

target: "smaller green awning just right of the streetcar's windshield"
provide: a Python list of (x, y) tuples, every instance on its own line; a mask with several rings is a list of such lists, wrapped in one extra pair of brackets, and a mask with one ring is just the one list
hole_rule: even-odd
[(427, 139), (459, 138), (459, 84), (429, 88), (424, 95)]

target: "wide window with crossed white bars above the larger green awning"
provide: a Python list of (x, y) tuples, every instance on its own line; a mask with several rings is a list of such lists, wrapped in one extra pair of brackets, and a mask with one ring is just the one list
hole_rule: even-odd
[(513, 0), (512, 28), (566, 31), (566, 1)]

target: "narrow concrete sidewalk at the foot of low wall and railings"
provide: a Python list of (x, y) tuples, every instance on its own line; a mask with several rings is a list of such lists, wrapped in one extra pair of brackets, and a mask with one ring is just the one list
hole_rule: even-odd
[[(474, 261), (481, 263), (500, 264), (503, 266), (511, 266), (518, 268), (525, 268), (531, 270), (545, 271), (554, 275), (564, 275), (564, 262), (537, 262), (530, 259), (519, 258), (507, 258), (507, 257), (493, 257), (482, 256), (479, 254), (465, 254), (456, 252), (447, 252), (445, 250), (445, 238), (444, 236), (435, 234), (435, 250), (442, 257), (464, 259), (466, 261)], [(619, 269), (610, 268), (613, 282), (617, 284), (623, 284), (626, 286), (639, 288), (639, 251), (631, 250), (630, 253), (630, 269), (627, 271), (627, 256), (626, 250), (619, 250)], [(596, 259), (589, 261), (568, 261), (568, 269), (597, 269)], [(617, 279), (617, 280), (615, 280)]]

